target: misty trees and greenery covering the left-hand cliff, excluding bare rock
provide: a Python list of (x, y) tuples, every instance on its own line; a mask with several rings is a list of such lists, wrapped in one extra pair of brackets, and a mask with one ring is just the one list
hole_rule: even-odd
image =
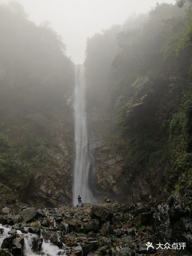
[(0, 5), (0, 34), (0, 182), (19, 191), (31, 174), (53, 168), (47, 148), (54, 123), (70, 115), (74, 64), (62, 38), (16, 2)]

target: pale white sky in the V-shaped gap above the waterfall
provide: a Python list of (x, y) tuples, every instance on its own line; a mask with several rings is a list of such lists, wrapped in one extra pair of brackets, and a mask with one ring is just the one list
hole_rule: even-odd
[[(10, 0), (0, 0), (8, 3)], [(49, 21), (63, 37), (67, 55), (75, 64), (84, 62), (86, 38), (123, 22), (133, 13), (147, 12), (157, 0), (17, 0), (29, 19), (37, 24)], [(158, 0), (175, 3), (174, 0)]]

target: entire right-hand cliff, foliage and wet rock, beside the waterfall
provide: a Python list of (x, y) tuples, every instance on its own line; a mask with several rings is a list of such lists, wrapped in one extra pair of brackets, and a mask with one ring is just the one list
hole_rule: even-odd
[(163, 202), (182, 189), (181, 174), (191, 173), (191, 17), (191, 9), (157, 4), (138, 27), (116, 31), (113, 60), (106, 58), (113, 50), (107, 31), (99, 43), (96, 35), (87, 43), (88, 119), (99, 196), (130, 202), (132, 193), (136, 201), (151, 193)]

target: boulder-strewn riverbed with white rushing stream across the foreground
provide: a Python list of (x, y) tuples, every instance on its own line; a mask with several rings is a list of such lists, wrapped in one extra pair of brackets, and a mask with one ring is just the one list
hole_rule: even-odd
[[(15, 212), (8, 207), (1, 210), (2, 256), (192, 255), (192, 221), (179, 196), (159, 205), (106, 199), (81, 208), (20, 207)], [(147, 242), (154, 248), (147, 250)], [(159, 243), (163, 249), (157, 249)], [(166, 243), (177, 248), (169, 249)]]

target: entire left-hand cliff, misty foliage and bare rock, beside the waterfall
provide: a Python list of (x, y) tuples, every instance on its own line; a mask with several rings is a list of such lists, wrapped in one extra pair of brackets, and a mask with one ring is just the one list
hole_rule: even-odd
[(56, 32), (14, 8), (0, 4), (0, 206), (67, 204), (74, 64)]

